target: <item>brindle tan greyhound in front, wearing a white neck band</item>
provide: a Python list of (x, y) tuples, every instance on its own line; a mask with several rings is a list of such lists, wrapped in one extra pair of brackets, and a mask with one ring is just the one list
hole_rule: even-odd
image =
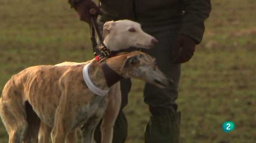
[(140, 51), (106, 59), (105, 63), (89, 62), (92, 83), (104, 91), (111, 87), (108, 95), (99, 96), (88, 89), (82, 72), (87, 64), (32, 66), (13, 75), (0, 99), (0, 115), (9, 143), (37, 142), (40, 120), (52, 128), (53, 143), (68, 141), (83, 124), (83, 142), (92, 143), (101, 118), (102, 143), (111, 143), (121, 103), (120, 93), (116, 95), (120, 77), (145, 80), (162, 88), (171, 83), (158, 69), (155, 58)]

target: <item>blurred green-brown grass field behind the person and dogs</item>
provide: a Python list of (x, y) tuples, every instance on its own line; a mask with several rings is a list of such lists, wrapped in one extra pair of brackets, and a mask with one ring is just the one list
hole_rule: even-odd
[[(182, 65), (179, 110), (182, 143), (255, 143), (256, 1), (212, 0), (203, 42)], [(6, 81), (32, 65), (93, 57), (88, 26), (63, 0), (0, 1), (0, 92)], [(150, 116), (143, 82), (133, 80), (127, 143), (143, 143)], [(221, 124), (232, 120), (233, 132)], [(0, 124), (0, 143), (8, 135)]]

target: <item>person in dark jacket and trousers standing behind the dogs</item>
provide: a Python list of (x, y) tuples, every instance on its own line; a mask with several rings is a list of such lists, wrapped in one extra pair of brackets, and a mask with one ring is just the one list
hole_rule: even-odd
[[(100, 0), (100, 8), (91, 0), (69, 0), (80, 20), (90, 23), (91, 8), (101, 10), (99, 25), (106, 21), (129, 19), (141, 24), (142, 30), (159, 42), (143, 52), (154, 56), (157, 65), (174, 85), (160, 89), (146, 83), (144, 102), (149, 105), (151, 117), (145, 129), (145, 143), (178, 143), (180, 112), (178, 98), (180, 64), (189, 61), (195, 46), (202, 41), (204, 21), (211, 11), (210, 0)], [(121, 81), (122, 105), (114, 125), (113, 143), (124, 143), (127, 138), (127, 120), (122, 109), (128, 103), (131, 80)], [(99, 127), (95, 139), (100, 143)]]

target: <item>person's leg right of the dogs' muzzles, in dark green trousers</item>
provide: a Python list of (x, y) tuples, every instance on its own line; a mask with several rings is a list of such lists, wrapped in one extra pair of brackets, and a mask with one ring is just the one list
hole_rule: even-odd
[(150, 50), (143, 50), (156, 58), (157, 65), (174, 84), (161, 89), (145, 84), (144, 101), (149, 105), (151, 117), (145, 130), (145, 143), (178, 143), (180, 113), (175, 100), (178, 97), (180, 64), (172, 64), (172, 45), (177, 29), (172, 26), (143, 29), (155, 36), (159, 43)]

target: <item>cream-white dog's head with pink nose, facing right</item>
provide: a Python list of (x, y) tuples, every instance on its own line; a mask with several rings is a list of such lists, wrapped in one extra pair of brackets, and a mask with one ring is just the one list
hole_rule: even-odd
[(152, 48), (157, 40), (145, 33), (141, 25), (131, 20), (108, 21), (103, 27), (104, 44), (111, 50), (130, 47)]

